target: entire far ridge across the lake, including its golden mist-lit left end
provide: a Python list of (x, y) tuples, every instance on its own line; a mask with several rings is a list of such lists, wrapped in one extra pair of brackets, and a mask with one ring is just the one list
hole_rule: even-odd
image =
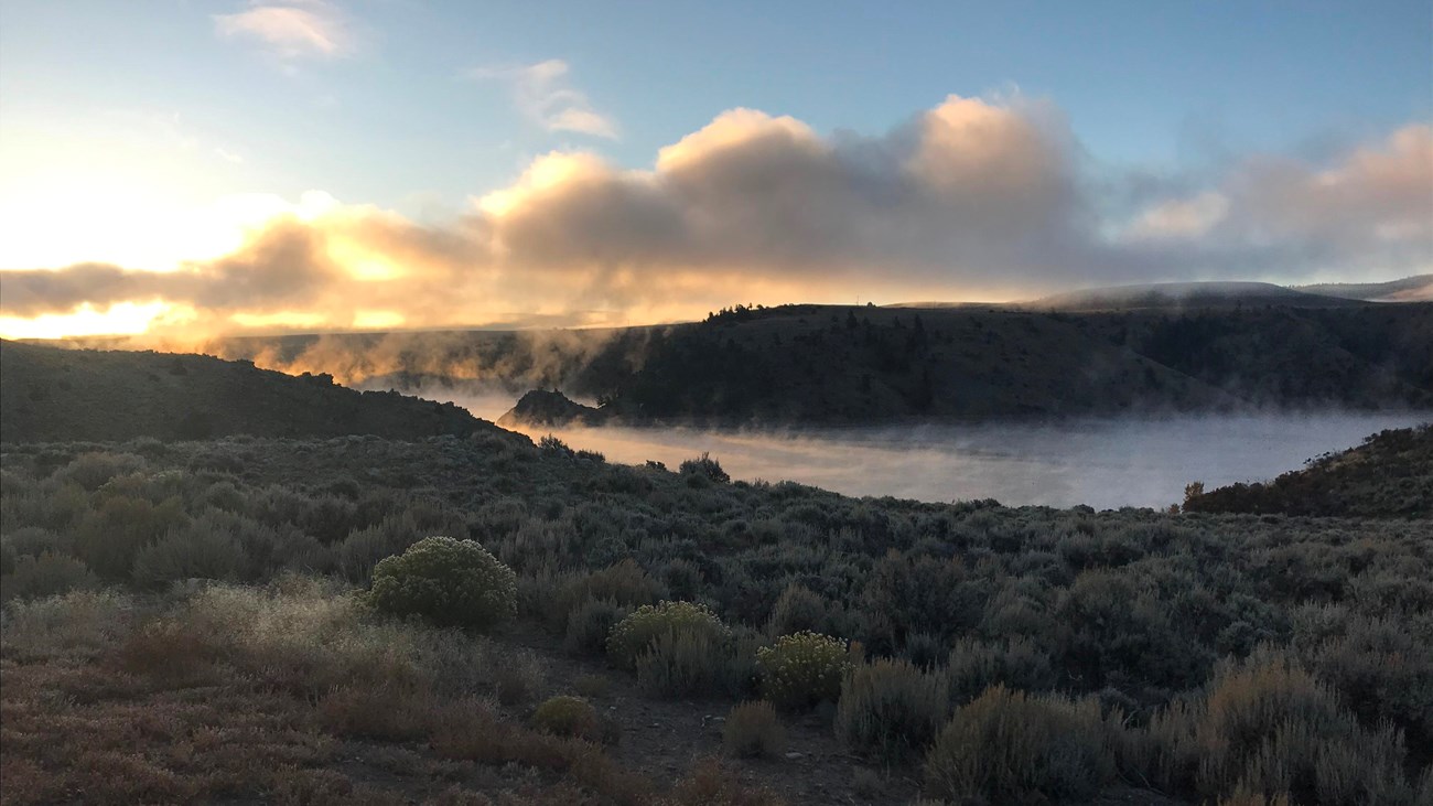
[(1234, 304), (1091, 311), (737, 307), (672, 326), (248, 337), (203, 350), (368, 389), (512, 400), (559, 389), (631, 423), (1433, 410), (1433, 303), (1270, 288), (1298, 303), (1245, 294)]

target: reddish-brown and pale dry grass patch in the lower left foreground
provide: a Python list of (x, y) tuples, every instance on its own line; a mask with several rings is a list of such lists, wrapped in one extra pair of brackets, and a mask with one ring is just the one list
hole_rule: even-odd
[(663, 802), (600, 744), (506, 713), (487, 641), (371, 621), (301, 579), (152, 610), (112, 594), (6, 608), (0, 803)]

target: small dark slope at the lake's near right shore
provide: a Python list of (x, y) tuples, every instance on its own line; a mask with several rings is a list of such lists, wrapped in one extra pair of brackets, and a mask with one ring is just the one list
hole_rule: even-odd
[(1433, 518), (1433, 425), (1377, 433), (1268, 483), (1192, 495), (1188, 512)]

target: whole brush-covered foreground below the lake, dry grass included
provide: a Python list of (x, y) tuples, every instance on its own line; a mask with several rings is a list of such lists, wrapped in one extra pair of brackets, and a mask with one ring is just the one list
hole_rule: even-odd
[[(428, 535), (513, 611), (391, 615)], [(1426, 518), (140, 439), (6, 445), (0, 564), (6, 803), (1433, 802)]]

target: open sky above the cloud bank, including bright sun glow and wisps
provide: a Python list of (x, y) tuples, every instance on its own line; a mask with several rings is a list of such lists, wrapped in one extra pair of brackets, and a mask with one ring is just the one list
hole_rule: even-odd
[(163, 268), (155, 222), (242, 194), (441, 224), (549, 152), (652, 169), (735, 108), (887, 138), (952, 95), (1043, 105), (1082, 182), (1195, 204), (1251, 159), (1314, 175), (1427, 126), (1433, 3), (4, 0), (0, 268)]

